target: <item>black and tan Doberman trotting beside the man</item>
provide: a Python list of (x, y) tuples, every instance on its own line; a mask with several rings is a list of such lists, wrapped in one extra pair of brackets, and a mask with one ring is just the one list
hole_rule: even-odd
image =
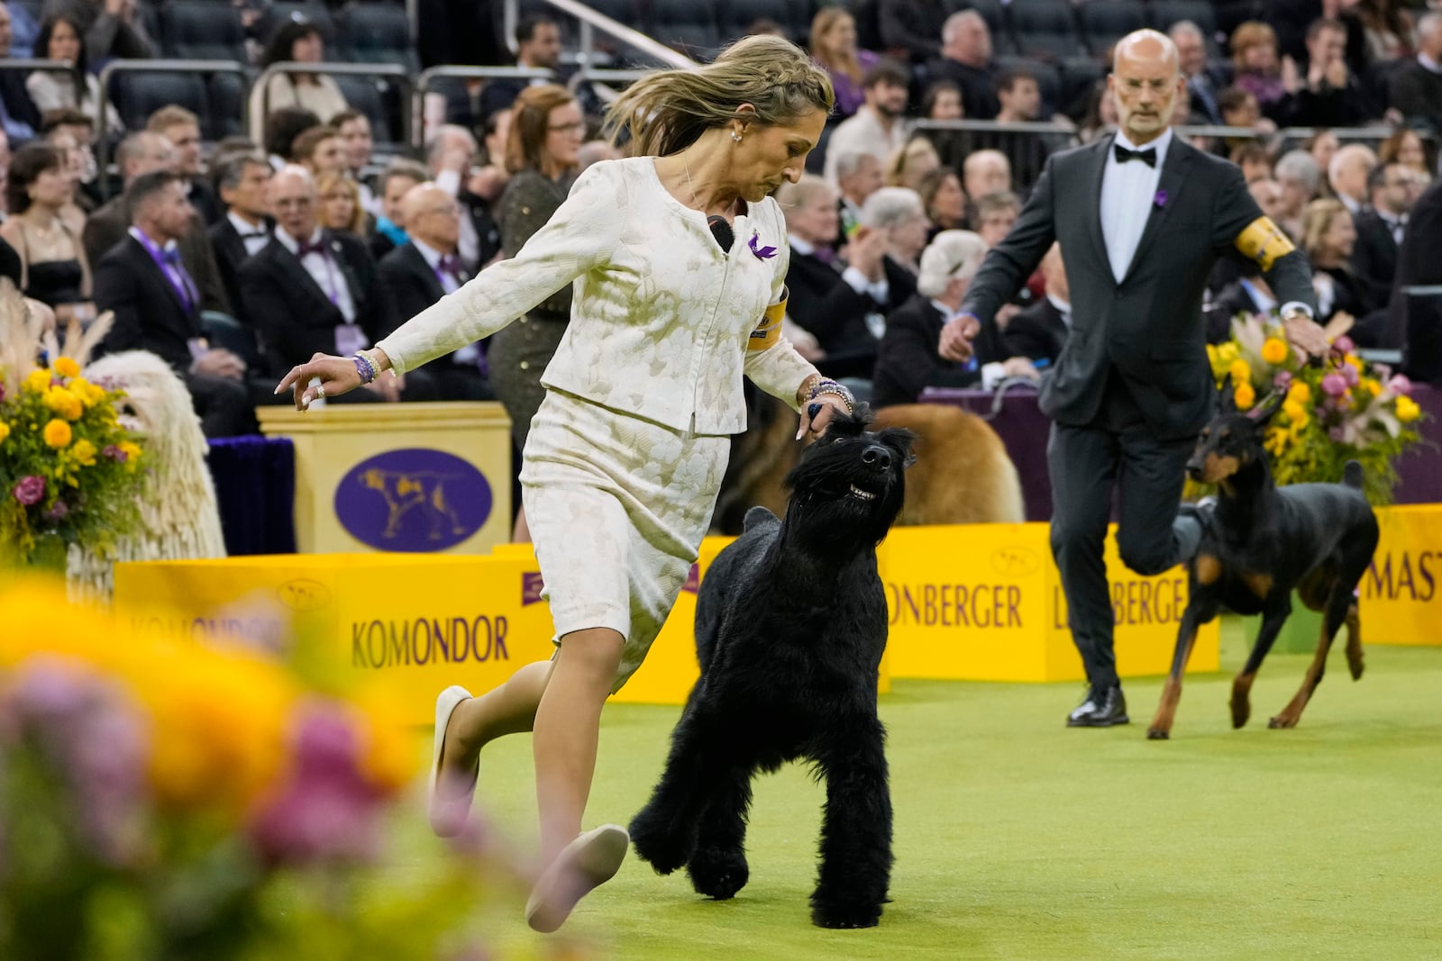
[(1193, 480), (1217, 486), (1217, 504), (1204, 524), (1201, 547), (1188, 565), (1191, 598), (1181, 618), (1171, 673), (1146, 736), (1171, 735), (1181, 676), (1197, 630), (1220, 608), (1260, 614), (1262, 630), (1247, 663), (1231, 683), (1231, 726), (1252, 713), (1252, 681), (1278, 631), (1292, 612), (1292, 591), (1322, 612), (1317, 656), (1301, 690), (1270, 728), (1295, 728), (1312, 692), (1322, 681), (1337, 630), (1347, 625), (1347, 666), (1361, 677), (1361, 622), (1355, 589), (1377, 549), (1377, 517), (1361, 493), (1361, 464), (1348, 461), (1341, 484), (1276, 487), (1262, 438), (1280, 398), (1250, 415), (1227, 405), (1201, 432), (1187, 462)]

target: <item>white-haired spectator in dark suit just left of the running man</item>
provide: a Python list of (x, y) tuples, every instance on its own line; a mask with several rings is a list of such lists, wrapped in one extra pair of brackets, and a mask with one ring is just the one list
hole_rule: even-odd
[(1037, 377), (1024, 357), (1002, 359), (1002, 344), (992, 336), (978, 337), (968, 363), (943, 360), (937, 352), (942, 327), (962, 305), (986, 243), (968, 231), (945, 231), (921, 255), (920, 275), (911, 297), (887, 316), (877, 370), (871, 380), (871, 403), (887, 408), (916, 403), (926, 388), (965, 388), (983, 380), (988, 386), (1007, 376)]

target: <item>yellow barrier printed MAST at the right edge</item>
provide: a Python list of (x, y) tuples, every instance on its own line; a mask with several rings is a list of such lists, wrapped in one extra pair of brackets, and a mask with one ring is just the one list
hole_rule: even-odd
[(1363, 644), (1442, 645), (1442, 504), (1379, 507), (1377, 526), (1361, 579)]

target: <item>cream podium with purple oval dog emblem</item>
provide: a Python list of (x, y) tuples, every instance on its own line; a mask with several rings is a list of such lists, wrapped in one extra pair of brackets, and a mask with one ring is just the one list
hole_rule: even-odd
[(260, 408), (296, 445), (301, 553), (487, 553), (510, 537), (510, 419), (495, 402)]

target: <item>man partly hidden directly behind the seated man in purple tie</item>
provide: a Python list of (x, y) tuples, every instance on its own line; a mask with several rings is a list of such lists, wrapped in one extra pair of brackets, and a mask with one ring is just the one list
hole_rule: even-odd
[[(141, 174), (156, 170), (174, 171), (174, 148), (160, 134), (151, 131), (131, 134), (120, 141), (120, 148), (115, 151), (115, 166), (120, 167), (120, 174), (128, 190), (130, 184)], [(85, 256), (91, 264), (98, 264), (111, 248), (125, 239), (131, 223), (127, 205), (123, 193), (85, 219), (81, 243), (85, 246)], [(186, 271), (200, 288), (200, 310), (232, 313), (231, 298), (225, 294), (225, 282), (221, 280), (215, 254), (211, 251), (211, 238), (205, 232), (205, 220), (195, 212), (195, 207), (190, 209), (190, 225), (177, 243)]]

